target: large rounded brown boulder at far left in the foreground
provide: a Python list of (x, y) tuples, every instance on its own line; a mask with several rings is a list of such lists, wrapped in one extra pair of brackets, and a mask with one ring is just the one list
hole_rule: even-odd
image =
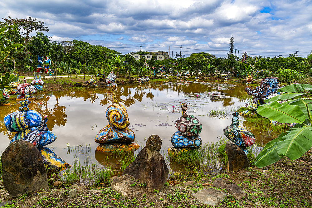
[(3, 186), (12, 197), (30, 191), (48, 191), (46, 168), (39, 150), (31, 143), (18, 139), (2, 153)]

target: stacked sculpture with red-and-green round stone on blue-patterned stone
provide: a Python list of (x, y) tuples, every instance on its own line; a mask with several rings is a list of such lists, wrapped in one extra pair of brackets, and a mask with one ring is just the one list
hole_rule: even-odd
[(182, 116), (174, 122), (178, 131), (171, 137), (174, 147), (168, 148), (169, 155), (179, 154), (190, 148), (198, 149), (202, 146), (202, 139), (198, 136), (202, 131), (202, 123), (193, 115), (187, 114), (187, 104), (183, 103), (181, 108)]

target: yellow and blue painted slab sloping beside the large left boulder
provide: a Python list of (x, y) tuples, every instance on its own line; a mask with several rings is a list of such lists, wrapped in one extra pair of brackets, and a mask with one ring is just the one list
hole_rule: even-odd
[(58, 157), (52, 150), (49, 148), (40, 148), (39, 149), (43, 163), (46, 167), (51, 167), (54, 170), (62, 171), (66, 168), (70, 168), (71, 165), (62, 160), (61, 157)]

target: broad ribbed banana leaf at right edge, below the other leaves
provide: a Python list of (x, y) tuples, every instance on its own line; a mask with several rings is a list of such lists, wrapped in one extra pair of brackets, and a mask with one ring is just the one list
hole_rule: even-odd
[(298, 159), (312, 147), (312, 126), (291, 128), (282, 137), (283, 141), (277, 142), (277, 154), (291, 160)]

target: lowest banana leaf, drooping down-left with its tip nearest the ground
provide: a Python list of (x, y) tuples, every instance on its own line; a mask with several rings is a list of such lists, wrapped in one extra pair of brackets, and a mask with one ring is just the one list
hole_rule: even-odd
[(278, 156), (277, 154), (277, 144), (276, 142), (271, 146), (271, 148), (266, 149), (265, 154), (262, 155), (255, 163), (254, 165), (257, 167), (266, 167), (268, 165), (273, 164), (274, 162), (277, 162), (282, 157)]

